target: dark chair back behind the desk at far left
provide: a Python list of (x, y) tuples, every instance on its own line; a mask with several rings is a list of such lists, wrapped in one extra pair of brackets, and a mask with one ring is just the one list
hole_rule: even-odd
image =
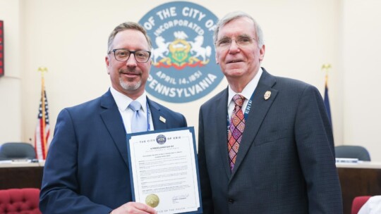
[(34, 159), (35, 148), (28, 143), (5, 143), (0, 145), (0, 160)]

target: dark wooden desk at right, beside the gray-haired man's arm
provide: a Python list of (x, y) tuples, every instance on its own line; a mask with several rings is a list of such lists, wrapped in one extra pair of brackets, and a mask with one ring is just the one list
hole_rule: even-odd
[(343, 196), (344, 214), (351, 213), (356, 196), (381, 194), (381, 163), (337, 163)]

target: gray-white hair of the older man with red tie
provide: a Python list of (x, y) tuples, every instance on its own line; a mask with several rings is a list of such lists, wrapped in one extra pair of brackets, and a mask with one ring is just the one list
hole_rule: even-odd
[(263, 41), (263, 33), (262, 33), (262, 29), (260, 28), (260, 25), (258, 25), (258, 23), (254, 20), (253, 17), (251, 17), (251, 15), (248, 15), (248, 13), (245, 13), (242, 11), (235, 11), (235, 12), (228, 13), (222, 19), (219, 20), (219, 22), (217, 23), (216, 30), (214, 30), (214, 34), (213, 34), (214, 44), (216, 44), (217, 42), (218, 32), (221, 27), (224, 27), (224, 25), (226, 25), (227, 23), (230, 23), (232, 20), (235, 20), (237, 18), (242, 18), (242, 17), (246, 17), (246, 18), (249, 18), (250, 20), (253, 20), (254, 27), (255, 27), (255, 37), (256, 37), (255, 39), (257, 39), (258, 47), (261, 48), (262, 45), (265, 44), (265, 42)]

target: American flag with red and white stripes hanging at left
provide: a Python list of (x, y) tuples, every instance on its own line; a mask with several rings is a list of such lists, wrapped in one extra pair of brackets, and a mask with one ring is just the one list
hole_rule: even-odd
[(39, 160), (47, 158), (47, 149), (49, 146), (49, 106), (47, 103), (47, 94), (44, 88), (44, 80), (42, 80), (42, 92), (40, 100), (40, 108), (37, 116), (37, 126), (35, 132), (35, 149), (36, 157)]

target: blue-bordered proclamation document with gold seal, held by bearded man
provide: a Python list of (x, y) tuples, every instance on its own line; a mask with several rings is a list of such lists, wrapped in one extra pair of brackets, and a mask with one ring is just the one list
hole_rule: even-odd
[(133, 199), (157, 213), (202, 213), (193, 127), (127, 134)]

